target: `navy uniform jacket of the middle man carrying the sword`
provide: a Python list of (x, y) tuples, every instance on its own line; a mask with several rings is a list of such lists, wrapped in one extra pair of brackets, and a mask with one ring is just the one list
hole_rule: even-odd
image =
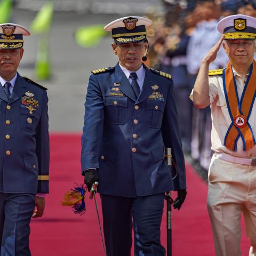
[[(136, 197), (186, 188), (173, 81), (144, 68), (138, 99), (119, 64), (90, 76), (82, 173), (98, 169), (102, 194)], [(167, 147), (179, 171), (174, 180), (164, 161)]]

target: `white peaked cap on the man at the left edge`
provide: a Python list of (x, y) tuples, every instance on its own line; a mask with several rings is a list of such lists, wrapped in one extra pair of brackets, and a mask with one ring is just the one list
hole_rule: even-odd
[(25, 27), (13, 23), (0, 24), (0, 49), (21, 49), (24, 42), (23, 35), (30, 35), (29, 30)]

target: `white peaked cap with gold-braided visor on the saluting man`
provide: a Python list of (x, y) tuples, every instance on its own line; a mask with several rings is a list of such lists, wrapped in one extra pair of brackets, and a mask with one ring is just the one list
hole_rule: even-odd
[(219, 21), (217, 29), (225, 40), (255, 39), (256, 19), (243, 14), (230, 15)]

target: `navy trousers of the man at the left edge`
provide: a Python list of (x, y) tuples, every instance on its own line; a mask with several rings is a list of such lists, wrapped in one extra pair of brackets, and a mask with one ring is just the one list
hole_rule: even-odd
[(35, 195), (0, 193), (1, 256), (30, 256), (29, 223)]

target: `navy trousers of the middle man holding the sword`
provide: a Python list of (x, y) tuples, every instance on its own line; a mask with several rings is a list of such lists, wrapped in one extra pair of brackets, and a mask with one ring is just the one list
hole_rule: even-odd
[(165, 256), (160, 242), (164, 194), (137, 198), (100, 195), (107, 256)]

